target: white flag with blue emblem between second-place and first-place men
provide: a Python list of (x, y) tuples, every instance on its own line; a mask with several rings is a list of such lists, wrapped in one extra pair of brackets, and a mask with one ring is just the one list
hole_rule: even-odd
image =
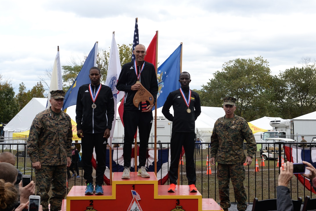
[(118, 90), (116, 89), (116, 84), (118, 82), (120, 72), (121, 72), (121, 62), (119, 60), (119, 51), (118, 51), (118, 47), (115, 41), (115, 34), (113, 32), (112, 44), (111, 44), (111, 49), (110, 49), (109, 66), (107, 69), (107, 75), (106, 75), (106, 81), (105, 81), (105, 85), (111, 88), (113, 98), (114, 98), (114, 119), (112, 122), (110, 138), (108, 139), (108, 144), (110, 146), (112, 145), (112, 138), (113, 138), (113, 133), (114, 133), (115, 121), (116, 121), (116, 107), (118, 103)]

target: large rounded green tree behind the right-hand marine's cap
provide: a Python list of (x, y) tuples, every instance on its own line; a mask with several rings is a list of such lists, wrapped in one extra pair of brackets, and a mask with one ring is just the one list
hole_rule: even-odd
[(274, 115), (271, 101), (275, 98), (269, 63), (262, 57), (235, 59), (224, 63), (222, 71), (201, 90), (203, 106), (222, 107), (225, 96), (237, 99), (236, 115), (247, 121)]

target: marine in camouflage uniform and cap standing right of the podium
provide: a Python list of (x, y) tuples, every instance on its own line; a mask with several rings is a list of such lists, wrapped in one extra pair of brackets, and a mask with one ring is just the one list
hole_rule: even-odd
[[(211, 136), (210, 164), (217, 162), (217, 179), (220, 205), (224, 211), (230, 207), (229, 180), (234, 187), (238, 210), (247, 209), (247, 195), (244, 187), (245, 168), (250, 165), (252, 156), (257, 151), (253, 133), (245, 119), (234, 114), (236, 109), (234, 97), (223, 99), (225, 116), (219, 118), (214, 125)], [(247, 157), (243, 150), (244, 140), (247, 142)]]

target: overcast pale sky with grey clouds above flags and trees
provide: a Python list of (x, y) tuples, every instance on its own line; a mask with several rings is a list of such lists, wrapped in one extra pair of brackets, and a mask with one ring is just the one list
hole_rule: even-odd
[[(17, 93), (27, 90), (54, 63), (80, 62), (95, 41), (108, 50), (112, 32), (120, 45), (133, 41), (138, 17), (140, 43), (149, 45), (158, 30), (158, 62), (183, 43), (182, 71), (191, 89), (213, 78), (237, 58), (262, 56), (271, 73), (316, 58), (314, 0), (0, 0), (0, 74)], [(88, 77), (88, 76), (87, 76)]]

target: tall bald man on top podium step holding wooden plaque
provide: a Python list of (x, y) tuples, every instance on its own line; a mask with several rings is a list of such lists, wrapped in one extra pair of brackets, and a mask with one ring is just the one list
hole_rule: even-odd
[[(123, 113), (124, 171), (122, 179), (130, 179), (131, 151), (137, 127), (139, 131), (140, 141), (139, 169), (137, 175), (144, 178), (150, 177), (146, 171), (145, 164), (147, 157), (148, 140), (153, 123), (153, 113), (151, 109), (155, 105), (158, 92), (155, 66), (149, 62), (144, 61), (144, 57), (146, 55), (145, 46), (143, 46), (142, 44), (138, 44), (137, 46), (135, 46), (133, 53), (135, 54), (135, 61), (131, 61), (123, 65), (118, 84), (116, 85), (117, 90), (125, 92)], [(141, 84), (137, 82), (140, 82), (143, 87), (152, 94), (154, 99), (154, 103), (151, 105), (149, 105), (148, 103), (145, 110), (142, 110), (140, 105), (138, 106), (138, 108), (135, 107), (133, 103), (133, 99), (137, 90), (141, 88)]]

